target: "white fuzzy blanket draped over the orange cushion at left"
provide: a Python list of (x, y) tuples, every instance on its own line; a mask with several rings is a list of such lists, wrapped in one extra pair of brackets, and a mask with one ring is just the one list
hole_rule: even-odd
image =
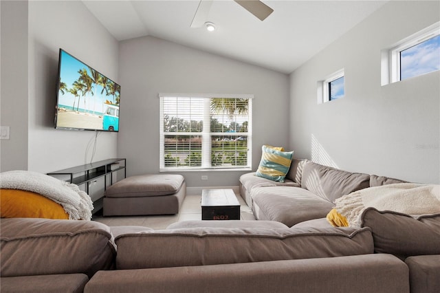
[(8, 171), (0, 173), (0, 188), (32, 191), (52, 199), (63, 206), (69, 219), (91, 219), (94, 204), (90, 196), (76, 184), (33, 171)]

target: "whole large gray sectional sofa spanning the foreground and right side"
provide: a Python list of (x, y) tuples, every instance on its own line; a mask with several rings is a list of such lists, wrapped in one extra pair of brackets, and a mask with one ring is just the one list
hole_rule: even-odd
[(259, 221), (153, 230), (1, 219), (0, 291), (440, 292), (440, 214), (367, 208), (361, 228), (331, 227), (323, 217), (332, 198), (395, 181), (303, 160), (292, 166), (283, 184), (241, 177)]

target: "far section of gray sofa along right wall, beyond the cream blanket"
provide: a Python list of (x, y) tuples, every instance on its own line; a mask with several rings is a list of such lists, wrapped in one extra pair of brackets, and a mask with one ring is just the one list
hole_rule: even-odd
[(256, 219), (279, 221), (289, 227), (324, 218), (334, 200), (353, 191), (403, 180), (351, 173), (309, 160), (293, 159), (285, 182), (246, 173), (240, 177), (240, 194)]

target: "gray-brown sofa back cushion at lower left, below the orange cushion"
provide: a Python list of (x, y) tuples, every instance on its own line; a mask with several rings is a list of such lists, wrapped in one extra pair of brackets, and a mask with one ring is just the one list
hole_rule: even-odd
[(87, 274), (111, 268), (108, 226), (96, 221), (1, 219), (1, 276)]

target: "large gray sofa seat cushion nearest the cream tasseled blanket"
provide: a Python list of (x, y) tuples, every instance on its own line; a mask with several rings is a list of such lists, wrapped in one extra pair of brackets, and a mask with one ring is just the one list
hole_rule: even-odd
[(289, 227), (325, 217), (334, 207), (331, 202), (299, 187), (254, 188), (251, 196), (257, 219), (279, 221)]

